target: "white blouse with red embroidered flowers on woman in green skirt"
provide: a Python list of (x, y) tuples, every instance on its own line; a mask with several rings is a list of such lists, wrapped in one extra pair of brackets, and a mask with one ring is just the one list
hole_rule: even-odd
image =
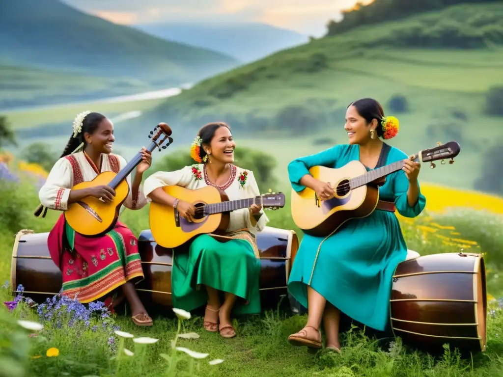
[[(243, 179), (241, 179), (242, 177), (244, 177), (244, 182)], [(170, 172), (157, 171), (145, 179), (143, 189), (145, 196), (147, 197), (147, 201), (151, 201), (151, 199), (148, 198), (148, 195), (152, 191), (158, 189), (158, 187), (169, 185), (177, 185), (185, 187), (189, 190), (201, 189), (201, 187), (208, 185), (215, 186), (208, 179), (205, 164), (185, 166), (180, 170)], [(244, 170), (235, 165), (231, 165), (229, 180), (225, 184), (221, 186), (217, 185), (216, 187), (225, 191), (225, 194), (227, 194), (230, 201), (260, 196), (259, 186), (255, 180), (253, 171)], [(248, 228), (250, 233), (256, 235), (257, 232), (262, 231), (269, 222), (268, 217), (264, 214), (264, 209), (261, 209), (260, 212), (262, 213), (262, 216), (259, 221), (253, 225), (255, 221), (252, 223), (247, 208), (231, 211), (227, 232)]]

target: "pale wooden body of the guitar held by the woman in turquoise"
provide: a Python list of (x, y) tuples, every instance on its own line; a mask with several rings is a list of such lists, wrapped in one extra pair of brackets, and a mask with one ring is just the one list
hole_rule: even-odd
[[(330, 182), (336, 189), (333, 198), (326, 201), (317, 200), (314, 190), (306, 187), (300, 193), (292, 190), (291, 208), (295, 224), (306, 234), (325, 237), (333, 233), (346, 221), (363, 218), (374, 212), (379, 201), (378, 185), (383, 181), (376, 181), (344, 190), (349, 186), (349, 179), (365, 174), (365, 166), (360, 161), (348, 162), (341, 168), (333, 169), (324, 166), (313, 166), (309, 173), (323, 182)], [(338, 195), (339, 194), (339, 195)]]

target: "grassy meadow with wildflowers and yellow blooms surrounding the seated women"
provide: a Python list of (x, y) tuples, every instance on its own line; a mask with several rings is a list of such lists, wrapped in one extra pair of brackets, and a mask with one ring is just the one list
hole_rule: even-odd
[[(15, 160), (10, 165), (15, 169)], [(8, 281), (15, 233), (19, 229), (49, 231), (58, 216), (50, 211), (45, 219), (33, 217), (32, 211), (38, 201), (37, 190), (26, 181), (29, 172), (28, 169), (17, 171), (19, 176), (24, 177), (20, 183), (2, 181), (0, 184), (2, 197), (10, 198), (0, 204), (0, 281), (6, 281), (5, 288), (0, 289), (0, 299), (5, 302), (13, 301)], [(23, 191), (20, 185), (23, 185)], [(21, 301), (10, 315), (6, 307), (0, 307), (0, 322), (3, 322), (0, 326), (0, 341), (3, 344), (0, 359), (9, 361), (9, 368), (3, 372), (11, 373), (0, 372), (0, 375), (499, 375), (503, 367), (500, 356), (503, 352), (503, 301), (495, 298), (503, 297), (503, 280), (499, 275), (503, 270), (500, 249), (503, 242), (503, 199), (482, 193), (471, 199), (471, 193), (426, 186), (430, 210), (416, 219), (399, 217), (407, 246), (422, 255), (461, 250), (484, 253), (488, 287), (487, 351), (484, 353), (461, 358), (453, 350), (446, 351), (442, 357), (434, 357), (424, 351), (410, 349), (399, 339), (392, 343), (379, 343), (354, 328), (342, 335), (342, 355), (329, 351), (311, 355), (305, 349), (291, 347), (286, 341), (290, 333), (302, 327), (305, 316), (291, 316), (283, 309), (267, 310), (261, 316), (236, 318), (238, 336), (225, 340), (218, 334), (201, 330), (202, 318), (199, 316), (183, 321), (178, 328), (173, 313), (161, 313), (154, 318), (154, 327), (141, 329), (132, 324), (127, 312), (125, 315), (111, 314), (94, 306), (88, 309), (55, 298), (49, 307)], [(285, 191), (289, 198), (288, 191)], [(450, 201), (445, 201), (447, 197)], [(460, 204), (470, 206), (473, 200), (479, 205), (478, 211), (459, 207)], [(453, 205), (457, 208), (452, 208)], [(289, 203), (285, 209), (268, 212), (268, 215), (270, 226), (298, 231), (290, 216)], [(148, 208), (126, 210), (121, 220), (138, 235), (148, 228)], [(301, 236), (300, 232), (298, 234)], [(41, 331), (24, 330), (12, 322), (13, 319), (39, 322), (44, 328)], [(123, 338), (121, 333), (115, 333), (117, 330), (140, 339)], [(177, 338), (177, 331), (191, 335)], [(28, 337), (29, 334), (32, 335)], [(177, 339), (176, 347), (183, 347), (181, 350), (172, 348), (174, 339)], [(137, 343), (143, 341), (154, 343)], [(190, 351), (203, 353), (193, 355), (203, 358), (192, 358), (186, 353)], [(130, 356), (130, 352), (134, 355)], [(223, 362), (210, 365), (209, 361), (214, 359)]]

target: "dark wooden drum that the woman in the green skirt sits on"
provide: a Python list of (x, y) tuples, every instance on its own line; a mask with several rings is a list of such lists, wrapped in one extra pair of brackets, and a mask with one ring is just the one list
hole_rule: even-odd
[[(280, 296), (287, 294), (290, 261), (295, 258), (299, 240), (293, 230), (266, 227), (257, 233), (257, 245), (262, 264), (259, 281), (262, 306), (275, 307)], [(138, 251), (145, 274), (145, 279), (136, 286), (138, 294), (147, 296), (155, 305), (172, 308), (173, 249), (158, 245), (150, 230), (144, 230), (138, 237)]]

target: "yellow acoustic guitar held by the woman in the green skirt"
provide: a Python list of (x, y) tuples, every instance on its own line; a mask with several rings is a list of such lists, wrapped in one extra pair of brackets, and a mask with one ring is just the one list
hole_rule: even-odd
[(189, 222), (171, 206), (150, 203), (150, 231), (155, 242), (165, 248), (178, 247), (200, 234), (223, 235), (229, 226), (230, 211), (248, 208), (252, 204), (260, 205), (265, 210), (277, 210), (285, 206), (283, 193), (229, 201), (227, 194), (214, 186), (197, 190), (164, 186), (162, 190), (180, 201), (191, 203), (196, 208), (193, 222)]

